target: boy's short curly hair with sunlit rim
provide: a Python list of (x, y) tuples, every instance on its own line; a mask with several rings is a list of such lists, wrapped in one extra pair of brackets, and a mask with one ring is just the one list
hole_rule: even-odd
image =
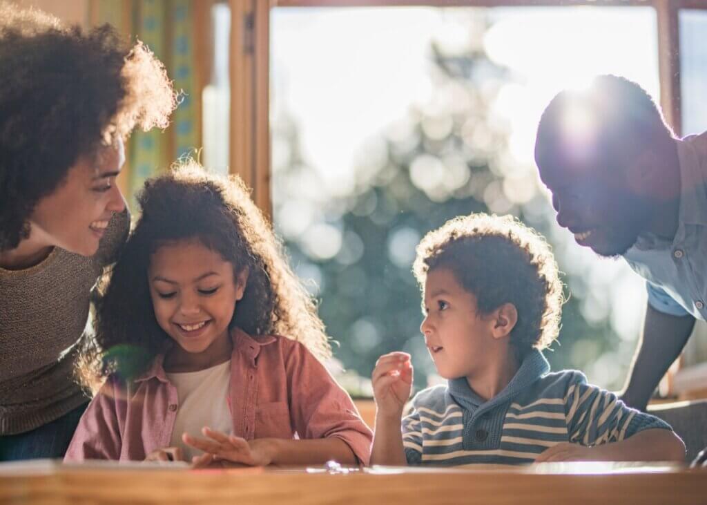
[(428, 272), (446, 267), (477, 298), (481, 314), (513, 303), (518, 322), (510, 342), (519, 359), (556, 339), (563, 303), (557, 263), (544, 238), (518, 219), (459, 216), (427, 233), (416, 252), (413, 272), (422, 290)]

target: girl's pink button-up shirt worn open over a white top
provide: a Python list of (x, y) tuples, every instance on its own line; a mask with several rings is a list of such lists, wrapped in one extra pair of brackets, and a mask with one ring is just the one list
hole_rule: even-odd
[[(354, 402), (303, 344), (272, 335), (232, 332), (230, 411), (233, 434), (346, 442), (368, 465), (373, 434)], [(78, 423), (65, 461), (144, 460), (170, 445), (179, 400), (158, 356), (129, 384), (108, 378)]]

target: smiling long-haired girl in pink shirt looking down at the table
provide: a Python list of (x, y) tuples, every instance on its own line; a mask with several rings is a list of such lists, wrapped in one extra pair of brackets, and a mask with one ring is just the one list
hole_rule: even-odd
[(243, 182), (188, 162), (138, 201), (84, 360), (107, 381), (66, 460), (368, 463), (314, 303)]

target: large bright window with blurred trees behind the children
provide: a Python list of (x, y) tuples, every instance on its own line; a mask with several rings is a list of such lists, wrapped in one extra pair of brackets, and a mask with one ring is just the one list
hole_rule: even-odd
[[(416, 356), (417, 385), (433, 381), (412, 250), (448, 217), (490, 209), (548, 236), (567, 273), (572, 298), (553, 365), (619, 387), (641, 325), (643, 281), (556, 227), (529, 156), (534, 127), (560, 88), (616, 73), (660, 100), (678, 131), (680, 120), (685, 132), (705, 129), (691, 122), (705, 116), (686, 110), (700, 101), (689, 88), (694, 78), (679, 79), (681, 69), (689, 76), (703, 67), (699, 44), (688, 54), (685, 42), (700, 33), (702, 12), (660, 1), (384, 3), (230, 1), (242, 32), (232, 50), (243, 41), (232, 58), (247, 74), (238, 77), (246, 83), (231, 83), (231, 96), (250, 93), (256, 109), (232, 111), (231, 124), (238, 118), (257, 131), (245, 142), (255, 155), (242, 167), (232, 154), (231, 166), (272, 209), (293, 265), (322, 298), (322, 317), (341, 343), (335, 354), (366, 378), (379, 354), (406, 349)], [(678, 18), (682, 60), (672, 51)], [(254, 85), (264, 82), (269, 91)]]

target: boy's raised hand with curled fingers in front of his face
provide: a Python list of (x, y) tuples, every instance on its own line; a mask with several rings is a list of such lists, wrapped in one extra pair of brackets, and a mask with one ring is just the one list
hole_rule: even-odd
[(400, 417), (412, 388), (412, 363), (405, 352), (380, 356), (373, 369), (373, 396), (377, 415)]

